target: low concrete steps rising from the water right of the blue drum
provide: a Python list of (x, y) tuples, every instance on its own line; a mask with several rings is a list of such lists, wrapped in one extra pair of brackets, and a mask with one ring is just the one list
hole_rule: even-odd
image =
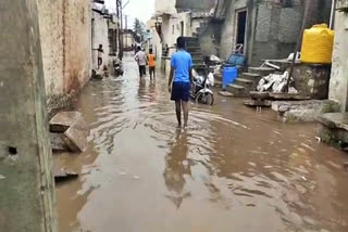
[(254, 91), (262, 77), (265, 77), (275, 69), (268, 67), (249, 67), (248, 73), (243, 73), (233, 83), (227, 85), (226, 91), (233, 96), (246, 98), (250, 95), (250, 91)]

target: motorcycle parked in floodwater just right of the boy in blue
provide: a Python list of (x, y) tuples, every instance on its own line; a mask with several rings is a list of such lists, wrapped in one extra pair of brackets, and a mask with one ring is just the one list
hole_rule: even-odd
[(194, 81), (191, 85), (190, 95), (197, 103), (202, 103), (207, 105), (214, 104), (214, 93), (211, 87), (214, 86), (214, 75), (209, 73), (209, 75), (199, 76), (195, 70)]

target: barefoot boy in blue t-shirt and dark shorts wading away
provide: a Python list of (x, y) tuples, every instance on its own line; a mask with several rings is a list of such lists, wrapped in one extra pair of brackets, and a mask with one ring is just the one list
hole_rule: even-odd
[(192, 81), (192, 59), (185, 51), (186, 42), (183, 37), (176, 40), (177, 52), (172, 55), (169, 91), (172, 101), (175, 101), (176, 118), (178, 127), (182, 127), (182, 108), (184, 111), (184, 127), (188, 120), (188, 99), (190, 82)]

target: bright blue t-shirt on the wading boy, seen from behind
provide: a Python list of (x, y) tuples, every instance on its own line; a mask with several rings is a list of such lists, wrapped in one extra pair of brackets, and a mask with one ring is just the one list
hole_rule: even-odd
[(179, 50), (172, 55), (171, 66), (174, 67), (174, 82), (189, 82), (189, 72), (192, 67), (191, 55)]

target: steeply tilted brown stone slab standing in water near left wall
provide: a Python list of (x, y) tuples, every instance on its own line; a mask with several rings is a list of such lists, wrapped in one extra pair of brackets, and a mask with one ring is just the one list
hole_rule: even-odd
[(64, 132), (63, 140), (72, 152), (84, 152), (87, 147), (89, 128), (83, 117), (77, 117), (74, 124)]

